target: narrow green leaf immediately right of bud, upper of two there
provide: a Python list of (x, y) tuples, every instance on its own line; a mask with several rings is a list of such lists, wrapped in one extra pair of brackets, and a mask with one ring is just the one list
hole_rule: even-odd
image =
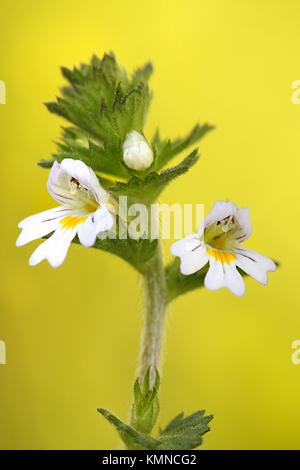
[(161, 140), (157, 130), (152, 139), (152, 145), (156, 150), (154, 170), (164, 167), (172, 158), (194, 145), (213, 129), (214, 127), (207, 123), (203, 125), (196, 124), (187, 136), (173, 142), (171, 140)]

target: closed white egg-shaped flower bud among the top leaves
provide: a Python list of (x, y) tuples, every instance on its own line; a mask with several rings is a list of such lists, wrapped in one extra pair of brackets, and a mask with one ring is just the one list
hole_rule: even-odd
[(153, 162), (153, 152), (145, 137), (131, 131), (123, 143), (123, 161), (128, 168), (136, 171), (147, 170)]

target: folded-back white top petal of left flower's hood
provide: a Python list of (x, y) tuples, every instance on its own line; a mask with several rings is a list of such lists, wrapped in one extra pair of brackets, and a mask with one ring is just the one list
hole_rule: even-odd
[(93, 193), (98, 203), (104, 202), (107, 199), (108, 194), (100, 186), (97, 176), (93, 170), (81, 160), (65, 158), (61, 162), (61, 168), (69, 176), (77, 179), (83, 186), (88, 188)]

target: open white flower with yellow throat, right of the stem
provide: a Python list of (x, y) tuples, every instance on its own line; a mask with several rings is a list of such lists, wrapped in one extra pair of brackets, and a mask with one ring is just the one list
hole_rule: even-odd
[(245, 283), (237, 267), (264, 285), (268, 282), (268, 271), (276, 269), (271, 259), (241, 245), (251, 232), (249, 209), (238, 209), (232, 202), (219, 201), (198, 233), (175, 242), (171, 252), (180, 257), (182, 274), (193, 274), (209, 262), (205, 287), (210, 290), (227, 287), (242, 296)]

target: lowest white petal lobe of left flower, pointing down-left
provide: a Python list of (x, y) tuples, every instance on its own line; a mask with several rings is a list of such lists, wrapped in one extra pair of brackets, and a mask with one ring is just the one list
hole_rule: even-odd
[(35, 266), (47, 259), (54, 268), (60, 266), (64, 261), (71, 241), (76, 235), (75, 229), (58, 229), (44, 243), (39, 245), (31, 255), (30, 266)]

